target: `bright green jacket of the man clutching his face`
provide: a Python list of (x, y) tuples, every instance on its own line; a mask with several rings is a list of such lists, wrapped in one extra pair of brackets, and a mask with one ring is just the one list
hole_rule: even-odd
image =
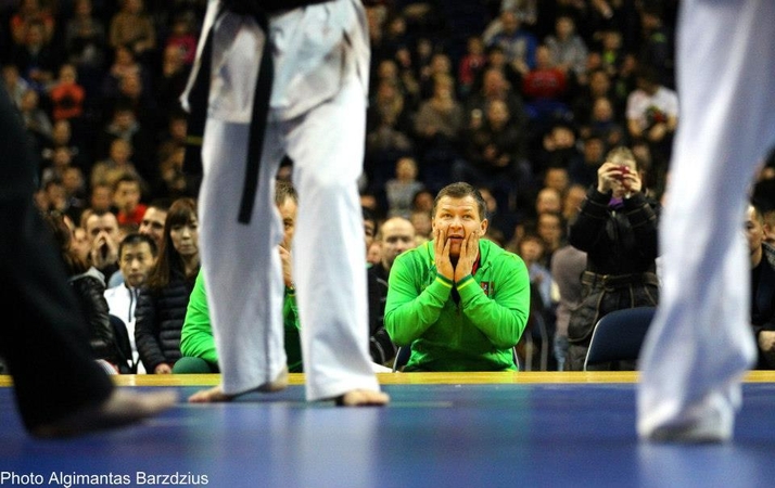
[(511, 348), (530, 313), (528, 268), (516, 254), (479, 242), (479, 268), (455, 284), (436, 272), (433, 241), (401, 254), (391, 269), (385, 329), (411, 345), (404, 371), (516, 370)]

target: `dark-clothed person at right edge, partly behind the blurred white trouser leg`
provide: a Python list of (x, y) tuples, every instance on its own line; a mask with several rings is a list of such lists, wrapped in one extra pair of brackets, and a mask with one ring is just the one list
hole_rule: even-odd
[(758, 204), (746, 217), (751, 257), (751, 328), (759, 346), (758, 370), (775, 370), (775, 248), (764, 242), (764, 217)]

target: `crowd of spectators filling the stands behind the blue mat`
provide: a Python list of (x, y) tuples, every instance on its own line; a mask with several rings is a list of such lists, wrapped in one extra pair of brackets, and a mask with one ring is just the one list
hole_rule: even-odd
[[(179, 102), (205, 8), (202, 0), (0, 2), (2, 81), (38, 158), (36, 203), (56, 213), (50, 223), (69, 227), (66, 255), (78, 255), (73, 277), (90, 283), (101, 275), (109, 288), (111, 314), (122, 324), (96, 318), (101, 335), (92, 343), (99, 339), (98, 356), (119, 372), (175, 372), (186, 356), (187, 308), (203, 307), (207, 325), (201, 279), (196, 285), (200, 177), (183, 167)], [(673, 197), (665, 193), (668, 163), (679, 124), (676, 8), (666, 0), (393, 0), (367, 9), (359, 190), (374, 363), (390, 364), (396, 346), (411, 345), (409, 370), (509, 370), (512, 347), (530, 336), (554, 352), (543, 368), (579, 369), (601, 314), (657, 305), (659, 208)], [(284, 160), (280, 180), (291, 165)], [(455, 187), (460, 181), (471, 190)], [(752, 182), (757, 213), (749, 219), (770, 244), (773, 181), (771, 157)], [(460, 239), (480, 255), (470, 251), (468, 262), (463, 253), (466, 274), (457, 278), (473, 274), (482, 296), (466, 282), (457, 293), (454, 266), (441, 271), (461, 251), (440, 245), (439, 204), (454, 207), (448, 217), (462, 211), (460, 201), (475, 210)], [(754, 267), (768, 262), (766, 249)], [(569, 253), (573, 262), (564, 265)], [(412, 274), (420, 265), (432, 267), (422, 278)], [(504, 267), (510, 278), (497, 274)], [(87, 278), (91, 269), (99, 274)], [(287, 278), (293, 304), (290, 271)], [(514, 295), (495, 294), (501, 280)], [(487, 297), (503, 309), (483, 312)], [(754, 310), (762, 367), (775, 349), (770, 304)], [(475, 313), (461, 318), (466, 307)], [(297, 317), (288, 312), (287, 332), (297, 337)], [(508, 334), (479, 323), (495, 320), (510, 324)], [(423, 335), (439, 321), (446, 337)], [(461, 336), (466, 328), (483, 335)], [(288, 357), (291, 371), (296, 352)], [(212, 348), (207, 355), (206, 370), (217, 371)]]

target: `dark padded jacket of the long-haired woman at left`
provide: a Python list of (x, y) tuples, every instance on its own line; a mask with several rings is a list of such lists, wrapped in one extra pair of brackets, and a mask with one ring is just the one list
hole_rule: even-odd
[(145, 371), (165, 362), (170, 367), (180, 359), (180, 331), (194, 280), (173, 271), (167, 286), (140, 291), (135, 310), (135, 341)]

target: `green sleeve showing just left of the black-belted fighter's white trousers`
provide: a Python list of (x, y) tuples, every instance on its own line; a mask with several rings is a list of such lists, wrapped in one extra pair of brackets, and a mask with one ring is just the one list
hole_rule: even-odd
[(218, 355), (215, 351), (215, 337), (213, 337), (213, 328), (209, 323), (207, 293), (204, 288), (204, 271), (202, 269), (196, 275), (196, 282), (191, 291), (189, 305), (186, 309), (186, 320), (180, 333), (180, 352), (183, 356), (202, 358), (212, 363), (218, 362)]

